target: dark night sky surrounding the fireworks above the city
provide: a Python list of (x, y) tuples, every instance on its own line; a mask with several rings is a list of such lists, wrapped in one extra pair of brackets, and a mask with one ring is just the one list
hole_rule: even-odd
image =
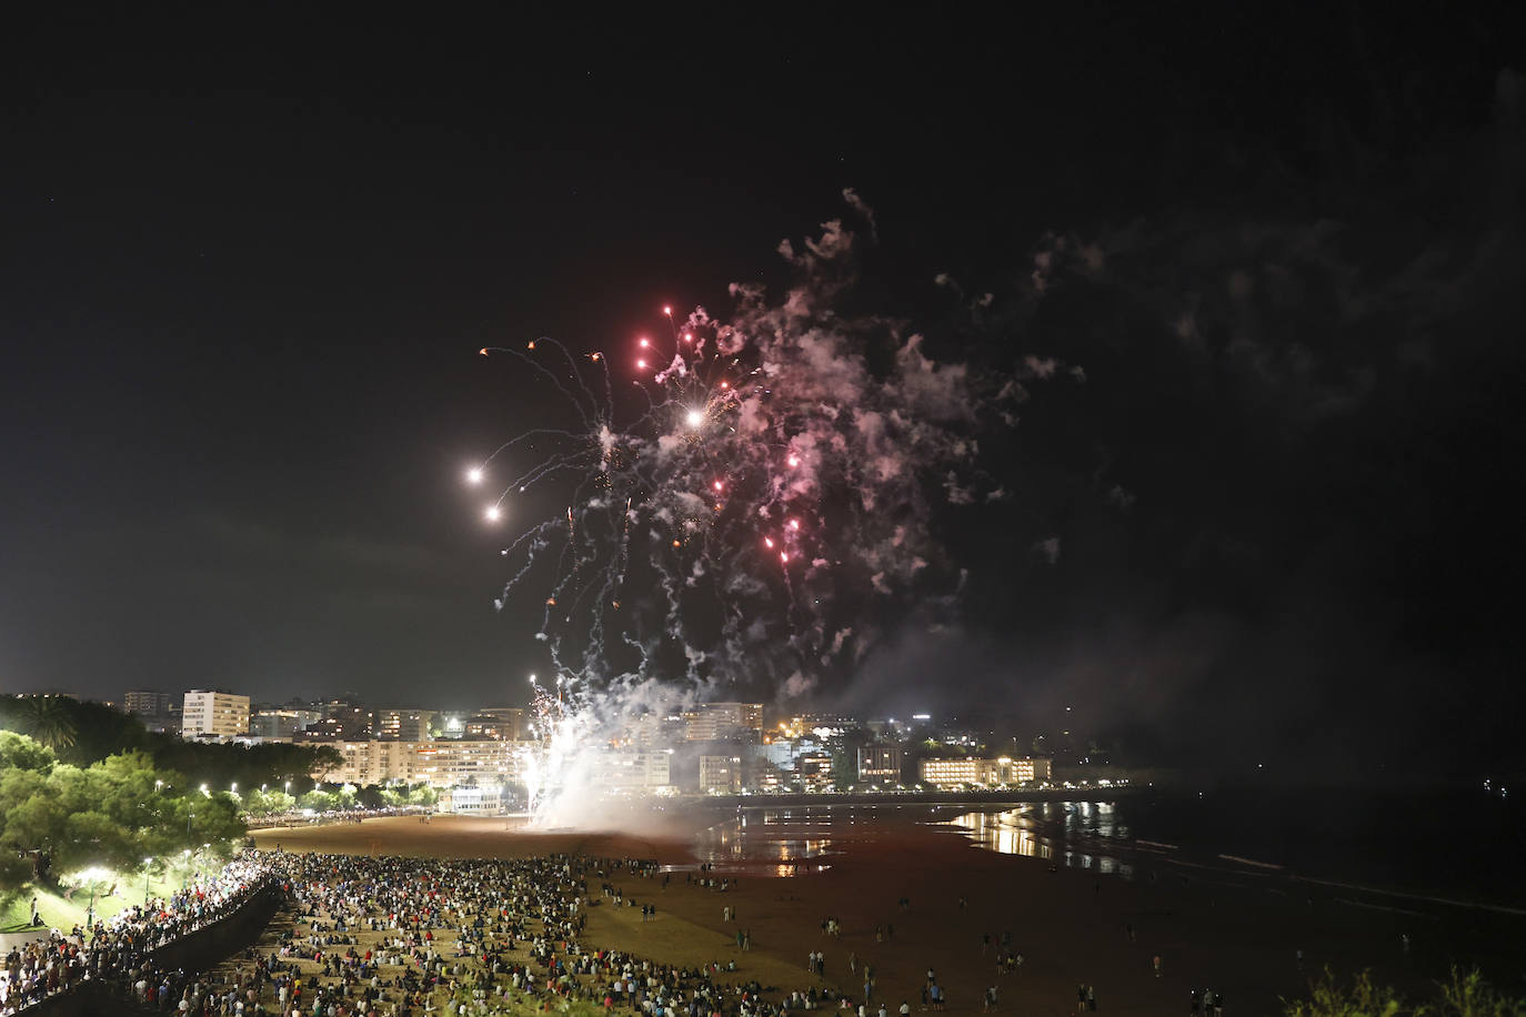
[(539, 613), (493, 610), (461, 474), (557, 410), (476, 351), (723, 311), (853, 188), (859, 311), (1085, 380), (983, 441), (1012, 497), (934, 517), (957, 624), (819, 706), (1526, 768), (1508, 9), (21, 26), (0, 685), (522, 703)]

